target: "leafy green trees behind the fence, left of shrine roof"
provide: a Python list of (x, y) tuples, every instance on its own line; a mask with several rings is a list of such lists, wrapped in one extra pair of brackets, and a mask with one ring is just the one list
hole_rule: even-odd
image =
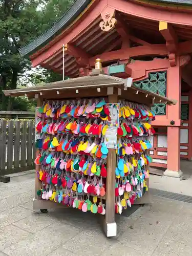
[[(71, 0), (0, 0), (1, 109), (12, 110), (16, 103), (14, 98), (5, 97), (2, 90), (16, 89), (17, 86), (23, 86), (27, 82), (36, 84), (58, 79), (59, 75), (45, 69), (39, 69), (37, 73), (28, 73), (32, 69), (31, 63), (19, 55), (18, 49), (52, 26), (73, 2)], [(18, 108), (20, 101), (16, 101)], [(22, 107), (23, 104), (20, 106)]]

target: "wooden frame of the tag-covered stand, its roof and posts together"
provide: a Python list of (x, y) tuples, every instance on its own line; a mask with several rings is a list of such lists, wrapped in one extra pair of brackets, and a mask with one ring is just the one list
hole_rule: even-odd
[[(47, 90), (42, 90), (42, 93), (39, 91), (40, 87), (30, 89), (27, 91), (22, 91), (20, 89), (14, 91), (5, 91), (6, 95), (17, 96), (28, 94), (30, 97), (37, 98), (37, 106), (41, 106), (43, 100), (51, 100), (51, 99), (65, 99), (65, 98), (80, 98), (80, 97), (108, 97), (109, 103), (118, 102), (119, 99), (125, 99), (129, 101), (134, 101), (137, 103), (144, 103), (146, 105), (151, 105), (154, 101), (157, 102), (166, 102), (168, 104), (175, 104), (174, 100), (169, 100), (165, 97), (161, 97), (157, 94), (149, 93), (143, 91), (141, 89), (137, 89), (129, 84), (129, 80), (121, 79), (117, 77), (110, 77), (101, 74), (101, 70), (93, 70), (92, 76), (76, 78), (78, 82), (82, 84), (81, 87), (78, 87), (78, 93), (73, 88), (75, 79), (69, 79), (73, 83), (73, 86), (70, 86), (70, 81), (62, 81), (60, 83), (59, 94), (58, 91), (58, 83), (52, 86), (49, 84)], [(100, 75), (99, 75), (100, 74)], [(99, 79), (102, 79), (102, 84), (99, 82)], [(76, 80), (76, 81), (77, 81)], [(94, 80), (94, 84), (93, 84)], [(105, 84), (104, 83), (105, 80)], [(98, 81), (98, 83), (97, 83)], [(93, 84), (91, 90), (85, 90), (87, 84)], [(128, 86), (127, 86), (128, 85)], [(84, 87), (84, 88), (83, 88)], [(97, 90), (99, 88), (99, 90)], [(36, 90), (35, 90), (36, 89)], [(38, 91), (37, 91), (38, 89)], [(43, 87), (42, 89), (46, 89)], [(66, 90), (65, 93), (62, 92)], [(87, 89), (87, 88), (86, 88)], [(28, 89), (26, 89), (28, 90)], [(75, 96), (74, 96), (75, 95)], [(80, 96), (80, 97), (79, 97)], [(39, 150), (36, 151), (36, 156), (39, 154)], [(114, 149), (109, 149), (107, 158), (107, 172), (108, 176), (106, 178), (106, 201), (105, 201), (105, 219), (103, 219), (103, 229), (107, 237), (114, 237), (117, 233), (117, 226), (115, 222), (115, 168), (116, 168), (116, 152)], [(35, 174), (35, 197), (33, 200), (33, 209), (49, 209), (49, 208), (58, 208), (58, 207), (65, 207), (63, 204), (55, 203), (50, 200), (42, 200), (40, 197), (36, 195), (36, 191), (41, 188), (41, 181), (39, 181), (37, 177), (37, 172), (39, 171), (40, 166), (36, 165), (36, 174)], [(148, 166), (147, 166), (148, 168)], [(148, 180), (146, 181), (149, 184)], [(145, 193), (144, 196), (135, 201), (135, 204), (145, 204), (150, 203), (150, 193)]]

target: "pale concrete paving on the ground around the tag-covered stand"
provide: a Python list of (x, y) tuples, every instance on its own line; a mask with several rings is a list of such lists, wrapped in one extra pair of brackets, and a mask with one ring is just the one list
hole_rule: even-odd
[(0, 183), (0, 256), (192, 255), (190, 203), (153, 196), (131, 216), (117, 215), (117, 237), (107, 239), (90, 212), (32, 210), (34, 193), (34, 172)]

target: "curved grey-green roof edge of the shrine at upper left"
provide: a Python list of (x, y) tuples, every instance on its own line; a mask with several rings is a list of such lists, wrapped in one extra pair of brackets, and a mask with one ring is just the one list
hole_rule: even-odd
[(20, 55), (23, 57), (29, 57), (37, 49), (46, 45), (52, 38), (58, 35), (61, 29), (67, 28), (78, 15), (89, 5), (91, 0), (76, 0), (71, 8), (62, 15), (62, 17), (44, 33), (30, 41), (27, 45), (18, 49)]

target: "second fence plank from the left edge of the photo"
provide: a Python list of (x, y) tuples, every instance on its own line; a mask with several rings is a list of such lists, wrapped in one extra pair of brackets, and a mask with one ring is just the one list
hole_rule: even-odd
[(8, 121), (7, 168), (13, 168), (13, 120)]

